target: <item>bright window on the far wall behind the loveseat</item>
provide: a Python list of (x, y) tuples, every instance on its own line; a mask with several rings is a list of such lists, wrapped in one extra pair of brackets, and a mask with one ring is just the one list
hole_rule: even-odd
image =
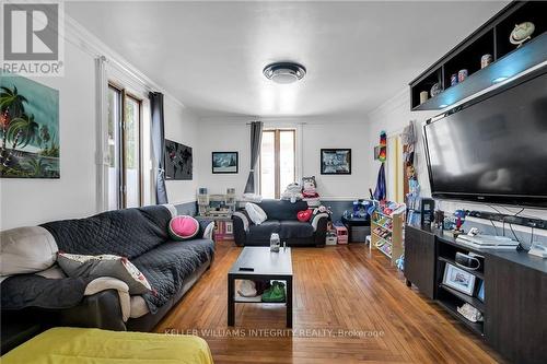
[(278, 199), (295, 180), (295, 131), (274, 129), (263, 131), (260, 145), (260, 195)]

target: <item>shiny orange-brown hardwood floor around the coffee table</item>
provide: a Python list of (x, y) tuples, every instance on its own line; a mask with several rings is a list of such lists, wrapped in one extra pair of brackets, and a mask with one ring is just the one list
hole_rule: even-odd
[(236, 304), (226, 326), (226, 272), (241, 248), (218, 243), (211, 269), (158, 325), (194, 333), (216, 363), (496, 363), (499, 355), (362, 244), (293, 248), (293, 332), (284, 306)]

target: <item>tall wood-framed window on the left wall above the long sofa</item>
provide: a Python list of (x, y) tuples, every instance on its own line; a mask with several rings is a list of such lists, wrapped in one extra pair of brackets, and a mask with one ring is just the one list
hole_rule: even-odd
[(142, 204), (141, 99), (108, 85), (108, 209)]

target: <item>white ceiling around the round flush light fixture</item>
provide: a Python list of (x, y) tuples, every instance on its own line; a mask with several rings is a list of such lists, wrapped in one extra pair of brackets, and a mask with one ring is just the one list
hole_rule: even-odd
[[(202, 117), (356, 116), (505, 3), (110, 1), (66, 11)], [(263, 68), (281, 60), (304, 64), (306, 77), (266, 80)]]

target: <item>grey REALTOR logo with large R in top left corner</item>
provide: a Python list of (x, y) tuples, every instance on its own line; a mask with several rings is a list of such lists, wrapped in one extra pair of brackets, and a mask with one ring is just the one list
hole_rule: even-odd
[(62, 75), (61, 2), (3, 2), (2, 70), (19, 75)]

